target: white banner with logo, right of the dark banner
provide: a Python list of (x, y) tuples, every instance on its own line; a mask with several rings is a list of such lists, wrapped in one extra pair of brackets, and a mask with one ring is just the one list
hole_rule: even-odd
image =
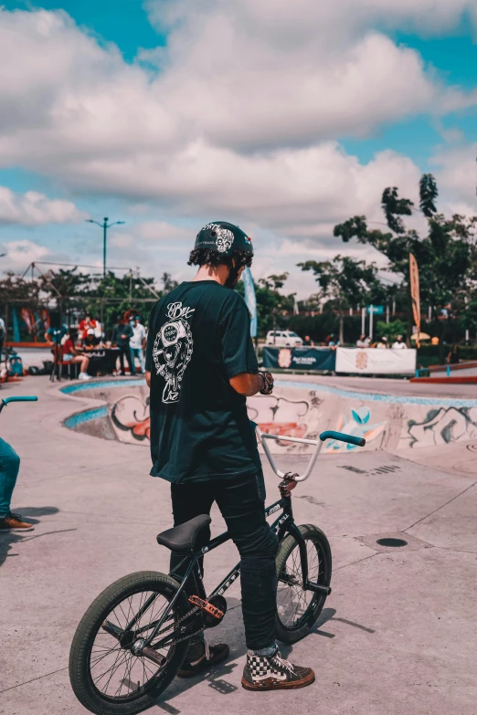
[(338, 348), (336, 373), (414, 374), (415, 350), (378, 350), (377, 348)]

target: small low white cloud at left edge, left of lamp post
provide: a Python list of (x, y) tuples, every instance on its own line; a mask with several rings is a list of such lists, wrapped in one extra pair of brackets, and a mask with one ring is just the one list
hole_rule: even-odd
[(48, 199), (48, 196), (36, 191), (15, 194), (6, 186), (0, 186), (0, 226), (66, 224), (80, 221), (86, 216), (88, 214), (79, 211), (70, 201)]

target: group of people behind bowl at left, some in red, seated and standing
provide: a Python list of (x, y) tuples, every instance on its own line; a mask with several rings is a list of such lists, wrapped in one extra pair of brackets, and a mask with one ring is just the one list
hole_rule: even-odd
[(80, 380), (90, 380), (89, 374), (91, 353), (98, 350), (116, 348), (118, 351), (116, 374), (125, 375), (125, 364), (135, 375), (136, 359), (139, 372), (145, 373), (144, 350), (146, 344), (146, 329), (139, 315), (129, 313), (117, 316), (117, 322), (111, 331), (111, 340), (105, 340), (105, 334), (100, 321), (87, 313), (77, 327), (48, 328), (45, 340), (55, 353), (55, 358), (63, 364), (79, 364)]

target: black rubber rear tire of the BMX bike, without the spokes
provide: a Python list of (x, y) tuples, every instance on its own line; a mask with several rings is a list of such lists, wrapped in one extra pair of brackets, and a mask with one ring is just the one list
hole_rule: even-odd
[[(153, 666), (153, 668), (158, 668), (157, 673), (151, 677), (143, 692), (139, 693), (138, 686), (137, 697), (134, 697), (132, 693), (130, 699), (123, 701), (111, 699), (105, 694), (101, 694), (101, 691), (95, 687), (90, 672), (90, 657), (101, 626), (114, 612), (114, 609), (124, 603), (125, 599), (132, 599), (132, 596), (136, 594), (153, 592), (160, 594), (170, 602), (177, 592), (177, 588), (177, 582), (165, 573), (151, 571), (131, 573), (108, 586), (90, 605), (80, 620), (69, 652), (69, 681), (76, 697), (87, 710), (96, 715), (135, 715), (135, 713), (154, 705), (157, 697), (175, 678), (185, 658), (188, 641), (172, 646), (169, 651), (171, 657), (167, 655), (166, 666)], [(175, 603), (175, 616), (185, 615), (187, 607), (187, 598), (185, 594), (181, 594)], [(129, 619), (129, 614), (127, 619)], [(127, 649), (124, 649), (124, 652), (127, 654)]]

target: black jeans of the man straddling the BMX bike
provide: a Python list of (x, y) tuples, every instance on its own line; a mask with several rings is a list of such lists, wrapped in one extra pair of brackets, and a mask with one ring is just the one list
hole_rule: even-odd
[[(199, 514), (209, 514), (217, 501), (228, 533), (240, 554), (242, 613), (247, 647), (251, 650), (275, 643), (277, 574), (275, 556), (278, 539), (265, 520), (263, 475), (211, 479), (188, 484), (172, 484), (174, 524), (178, 526)], [(208, 537), (210, 538), (210, 536)], [(184, 556), (171, 554), (171, 571)], [(182, 572), (182, 573), (181, 573)], [(181, 568), (176, 573), (184, 575)], [(194, 593), (193, 582), (187, 584)], [(192, 588), (191, 588), (192, 586)]]

